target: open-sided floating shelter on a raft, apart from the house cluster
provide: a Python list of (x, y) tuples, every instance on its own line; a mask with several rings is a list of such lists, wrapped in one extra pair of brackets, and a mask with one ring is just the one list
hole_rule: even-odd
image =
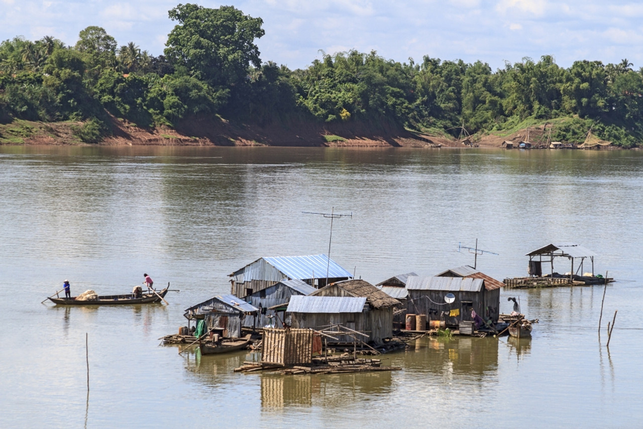
[[(612, 282), (613, 278), (603, 278), (594, 274), (594, 257), (596, 253), (572, 242), (550, 243), (530, 251), (529, 277), (505, 278), (507, 288), (532, 288), (534, 286), (554, 286), (565, 284), (603, 284)], [(564, 274), (554, 270), (554, 260), (567, 259), (570, 268)], [(592, 271), (584, 272), (584, 270)]]

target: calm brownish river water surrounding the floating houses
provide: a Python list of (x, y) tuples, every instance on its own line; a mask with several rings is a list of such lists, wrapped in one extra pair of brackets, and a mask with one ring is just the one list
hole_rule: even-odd
[[(637, 427), (643, 419), (643, 152), (0, 147), (0, 426)], [(549, 242), (609, 270), (602, 286), (505, 290), (532, 340), (422, 339), (403, 370), (233, 374), (249, 352), (177, 354), (159, 338), (262, 256), (326, 253), (372, 283), (473, 264), (523, 275)], [(568, 271), (565, 264), (557, 271)], [(585, 269), (587, 271), (587, 268)], [(40, 304), (129, 292), (149, 273), (169, 306)], [(85, 336), (89, 337), (87, 396)]]

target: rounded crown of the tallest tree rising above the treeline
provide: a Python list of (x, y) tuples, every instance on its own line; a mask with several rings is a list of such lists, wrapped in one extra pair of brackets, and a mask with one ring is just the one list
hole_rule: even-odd
[(179, 24), (168, 35), (165, 56), (190, 76), (211, 86), (230, 86), (246, 78), (250, 64), (260, 66), (254, 41), (265, 33), (262, 19), (233, 6), (211, 9), (190, 3), (169, 15)]

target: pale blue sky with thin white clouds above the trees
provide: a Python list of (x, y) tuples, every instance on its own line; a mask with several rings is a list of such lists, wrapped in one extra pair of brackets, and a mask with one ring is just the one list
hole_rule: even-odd
[[(260, 17), (261, 59), (306, 68), (323, 53), (377, 51), (385, 59), (421, 62), (507, 62), (552, 55), (604, 64), (628, 59), (643, 66), (643, 3), (620, 0), (187, 0), (207, 8), (235, 6)], [(161, 55), (176, 22), (167, 0), (0, 0), (0, 41), (45, 35), (73, 45), (87, 26), (100, 26), (118, 45), (136, 43)]]

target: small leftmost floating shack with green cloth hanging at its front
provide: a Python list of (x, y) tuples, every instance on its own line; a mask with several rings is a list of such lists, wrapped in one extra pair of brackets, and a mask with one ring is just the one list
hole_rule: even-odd
[(188, 327), (192, 320), (204, 320), (206, 329), (226, 338), (240, 338), (244, 320), (256, 326), (259, 309), (234, 295), (212, 297), (185, 310)]

